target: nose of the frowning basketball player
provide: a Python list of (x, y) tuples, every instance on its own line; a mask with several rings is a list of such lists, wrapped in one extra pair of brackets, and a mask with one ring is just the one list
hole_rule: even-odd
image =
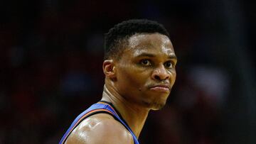
[(151, 78), (158, 81), (163, 81), (169, 79), (170, 77), (170, 73), (166, 70), (164, 65), (159, 65), (159, 67), (156, 67), (151, 74)]

